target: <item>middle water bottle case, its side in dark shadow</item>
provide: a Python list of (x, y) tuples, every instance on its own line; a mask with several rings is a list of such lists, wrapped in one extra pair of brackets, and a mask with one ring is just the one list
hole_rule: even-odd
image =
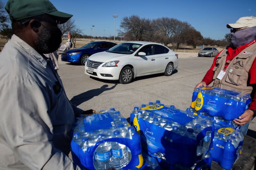
[(134, 107), (131, 124), (141, 138), (142, 150), (165, 160), (168, 166), (191, 167), (212, 148), (212, 119), (156, 102)]

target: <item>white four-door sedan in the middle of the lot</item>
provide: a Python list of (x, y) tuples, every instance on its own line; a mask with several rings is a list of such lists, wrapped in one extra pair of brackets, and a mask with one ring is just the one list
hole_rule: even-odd
[(178, 55), (162, 44), (145, 41), (120, 43), (108, 51), (91, 55), (85, 74), (107, 80), (131, 83), (139, 76), (164, 73), (171, 76), (178, 67)]

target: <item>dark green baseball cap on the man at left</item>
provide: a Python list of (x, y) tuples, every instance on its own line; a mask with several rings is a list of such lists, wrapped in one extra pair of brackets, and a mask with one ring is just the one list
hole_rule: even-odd
[(63, 24), (73, 15), (58, 11), (49, 0), (9, 0), (5, 5), (11, 21), (48, 14)]

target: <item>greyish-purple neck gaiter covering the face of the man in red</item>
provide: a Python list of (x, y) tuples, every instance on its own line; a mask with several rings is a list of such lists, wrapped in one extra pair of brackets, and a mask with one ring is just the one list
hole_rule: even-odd
[(231, 46), (240, 47), (256, 38), (256, 26), (231, 33)]

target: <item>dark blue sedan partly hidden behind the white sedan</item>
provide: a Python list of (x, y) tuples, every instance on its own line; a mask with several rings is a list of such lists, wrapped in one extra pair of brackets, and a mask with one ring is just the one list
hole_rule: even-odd
[(90, 55), (106, 51), (115, 45), (116, 43), (107, 41), (90, 42), (81, 48), (71, 49), (66, 53), (63, 53), (61, 55), (61, 61), (66, 61), (69, 63), (81, 63), (84, 65)]

